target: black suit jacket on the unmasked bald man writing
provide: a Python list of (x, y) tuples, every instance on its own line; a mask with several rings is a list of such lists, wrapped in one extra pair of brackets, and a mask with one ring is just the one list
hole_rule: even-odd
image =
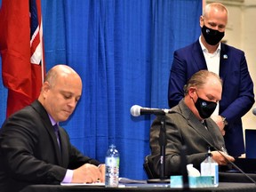
[(60, 128), (61, 152), (52, 123), (39, 101), (8, 118), (0, 130), (0, 190), (29, 184), (60, 184), (67, 169), (100, 163), (83, 156)]

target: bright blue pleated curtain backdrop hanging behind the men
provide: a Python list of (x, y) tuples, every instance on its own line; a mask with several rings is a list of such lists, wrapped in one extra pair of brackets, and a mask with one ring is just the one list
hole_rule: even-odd
[[(76, 111), (62, 124), (71, 142), (101, 162), (114, 143), (120, 176), (146, 179), (142, 164), (155, 116), (133, 117), (130, 108), (168, 108), (172, 54), (200, 35), (202, 0), (41, 1), (46, 69), (67, 64), (84, 83)], [(2, 78), (0, 94), (2, 124)]]

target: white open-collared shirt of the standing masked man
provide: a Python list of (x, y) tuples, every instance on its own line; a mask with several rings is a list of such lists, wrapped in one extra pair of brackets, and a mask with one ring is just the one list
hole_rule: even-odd
[[(206, 61), (206, 66), (209, 71), (212, 71), (213, 73), (220, 76), (220, 44), (217, 48), (217, 50), (213, 53), (208, 52), (204, 44), (202, 43), (201, 36), (199, 37), (199, 43), (201, 45), (202, 51), (204, 53), (204, 59)], [(219, 102), (217, 103), (217, 107), (215, 108), (213, 115), (218, 116), (219, 115)]]

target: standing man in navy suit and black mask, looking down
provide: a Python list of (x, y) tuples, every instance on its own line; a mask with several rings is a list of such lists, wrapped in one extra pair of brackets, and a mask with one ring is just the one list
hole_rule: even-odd
[(228, 22), (228, 10), (220, 3), (207, 4), (200, 17), (199, 39), (174, 52), (169, 80), (168, 100), (172, 108), (182, 99), (183, 86), (201, 69), (208, 69), (223, 80), (220, 105), (212, 119), (224, 136), (228, 153), (244, 153), (242, 116), (254, 103), (253, 83), (244, 52), (220, 43)]

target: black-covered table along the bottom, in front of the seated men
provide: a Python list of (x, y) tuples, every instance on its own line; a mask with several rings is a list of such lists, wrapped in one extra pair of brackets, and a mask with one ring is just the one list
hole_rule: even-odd
[[(252, 180), (256, 180), (256, 174), (247, 174)], [(255, 191), (256, 182), (249, 180), (244, 174), (237, 172), (220, 172), (220, 185), (217, 188), (189, 188), (189, 191), (232, 191), (232, 192), (245, 192)], [(100, 192), (124, 192), (124, 191), (188, 191), (182, 188), (170, 188), (167, 187), (168, 183), (137, 183), (137, 184), (125, 184), (122, 188), (105, 188), (104, 186), (60, 186), (60, 185), (31, 185), (24, 188), (21, 192), (56, 192), (56, 191), (67, 191), (67, 192), (84, 192), (84, 191), (100, 191)], [(160, 187), (161, 186), (161, 187)]]

